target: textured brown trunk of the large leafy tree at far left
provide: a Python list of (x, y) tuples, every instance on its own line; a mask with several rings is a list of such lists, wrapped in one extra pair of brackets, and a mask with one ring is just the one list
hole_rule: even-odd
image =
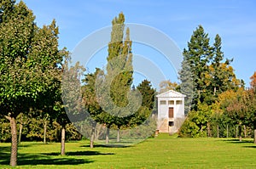
[(11, 144), (11, 156), (9, 165), (10, 166), (17, 166), (17, 155), (18, 155), (18, 139), (17, 139), (17, 124), (15, 117), (5, 116), (9, 122), (11, 127), (11, 134), (12, 134), (12, 144)]

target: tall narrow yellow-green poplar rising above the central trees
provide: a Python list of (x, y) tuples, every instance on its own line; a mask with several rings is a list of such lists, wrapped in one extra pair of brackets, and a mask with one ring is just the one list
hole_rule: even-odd
[(112, 21), (111, 41), (108, 43), (107, 78), (112, 79), (110, 95), (113, 103), (125, 107), (128, 104), (127, 93), (132, 83), (132, 54), (130, 30), (125, 29), (125, 15), (119, 14)]

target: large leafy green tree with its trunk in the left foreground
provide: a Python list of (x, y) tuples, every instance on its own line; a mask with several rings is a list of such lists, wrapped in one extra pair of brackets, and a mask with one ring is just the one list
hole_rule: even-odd
[(51, 104), (45, 96), (50, 97), (60, 85), (58, 65), (63, 53), (58, 49), (55, 20), (39, 28), (22, 1), (1, 1), (0, 13), (0, 108), (10, 121), (10, 165), (16, 166), (16, 117)]

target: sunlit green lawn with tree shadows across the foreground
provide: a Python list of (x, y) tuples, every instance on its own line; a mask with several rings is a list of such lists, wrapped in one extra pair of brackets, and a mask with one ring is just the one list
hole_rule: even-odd
[[(66, 144), (22, 143), (17, 168), (256, 168), (256, 145), (252, 139), (238, 142), (224, 138), (174, 138), (161, 134), (123, 148), (88, 141)], [(10, 144), (0, 143), (0, 168), (10, 168)]]

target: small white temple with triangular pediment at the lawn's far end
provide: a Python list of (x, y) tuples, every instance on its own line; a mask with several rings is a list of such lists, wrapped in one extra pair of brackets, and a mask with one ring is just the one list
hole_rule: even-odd
[(158, 132), (177, 132), (182, 126), (184, 115), (184, 98), (186, 95), (169, 90), (156, 95), (158, 100)]

